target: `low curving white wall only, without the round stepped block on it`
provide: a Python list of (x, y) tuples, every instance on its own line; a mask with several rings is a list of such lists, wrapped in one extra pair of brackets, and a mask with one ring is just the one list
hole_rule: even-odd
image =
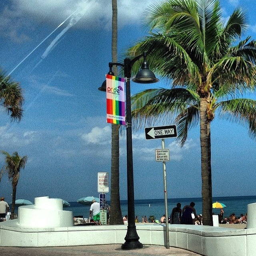
[[(138, 224), (136, 230), (142, 244), (166, 246), (165, 225)], [(126, 232), (125, 225), (28, 228), (18, 225), (18, 220), (10, 220), (1, 222), (0, 246), (123, 244)], [(205, 256), (255, 256), (256, 229), (170, 225), (169, 243)]]

